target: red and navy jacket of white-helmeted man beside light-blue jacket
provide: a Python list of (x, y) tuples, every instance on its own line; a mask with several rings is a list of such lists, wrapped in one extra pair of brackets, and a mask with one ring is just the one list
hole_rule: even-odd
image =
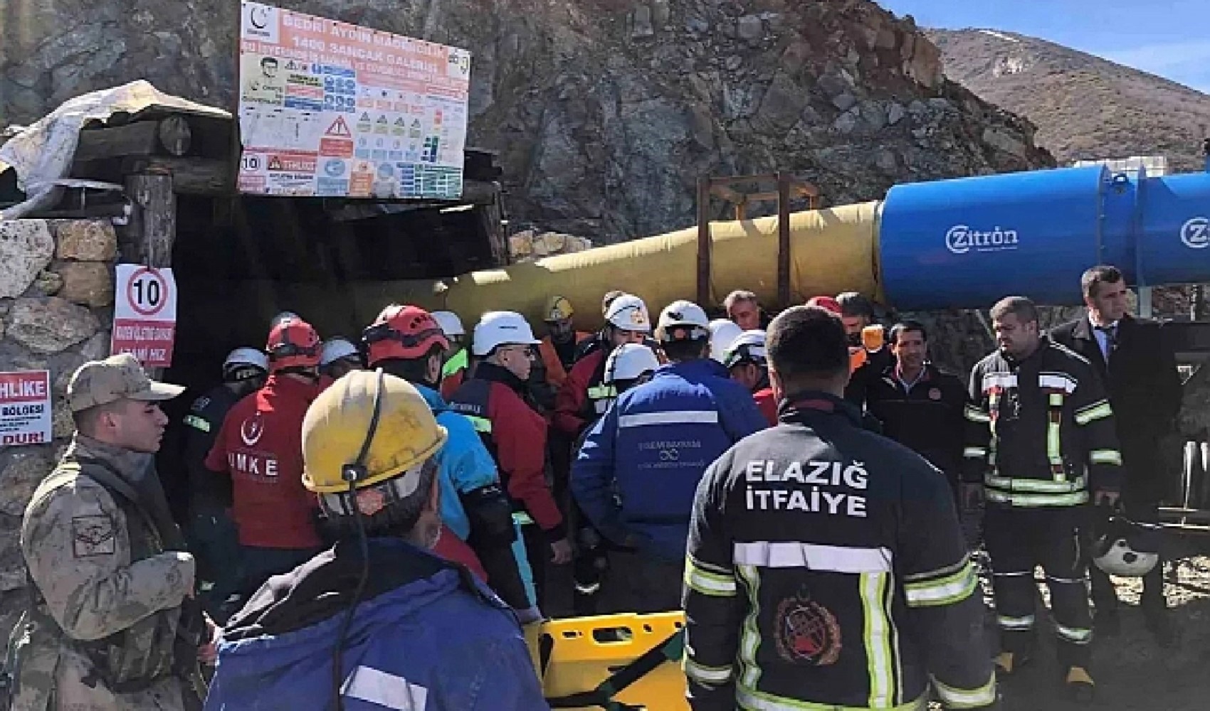
[(561, 541), (567, 528), (546, 480), (546, 420), (525, 401), (524, 392), (525, 383), (507, 369), (480, 363), (449, 405), (474, 424), (522, 522), (531, 519), (551, 542)]

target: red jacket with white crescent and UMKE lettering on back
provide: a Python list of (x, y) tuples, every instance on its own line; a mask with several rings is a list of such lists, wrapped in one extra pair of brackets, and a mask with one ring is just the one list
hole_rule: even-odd
[(280, 375), (236, 403), (223, 421), (206, 468), (231, 476), (240, 543), (318, 548), (315, 495), (302, 487), (302, 417), (318, 385)]

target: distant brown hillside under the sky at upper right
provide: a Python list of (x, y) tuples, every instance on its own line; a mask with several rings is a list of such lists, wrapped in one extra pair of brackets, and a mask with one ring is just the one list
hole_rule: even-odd
[(1068, 47), (995, 30), (928, 30), (945, 74), (1026, 116), (1061, 162), (1166, 155), (1170, 169), (1202, 167), (1210, 96)]

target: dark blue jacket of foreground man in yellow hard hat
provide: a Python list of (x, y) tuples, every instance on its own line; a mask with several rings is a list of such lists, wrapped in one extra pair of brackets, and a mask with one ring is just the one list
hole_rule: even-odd
[[(549, 709), (517, 618), (473, 576), (397, 538), (371, 538), (373, 574), (345, 635), (346, 711)], [(335, 707), (333, 652), (362, 571), (341, 542), (269, 583), (224, 630), (206, 711)]]

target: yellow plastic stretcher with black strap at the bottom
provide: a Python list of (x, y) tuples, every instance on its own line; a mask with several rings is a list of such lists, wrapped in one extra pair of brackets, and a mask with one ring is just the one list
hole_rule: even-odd
[(554, 709), (688, 711), (684, 626), (684, 612), (578, 617), (528, 625), (525, 641)]

